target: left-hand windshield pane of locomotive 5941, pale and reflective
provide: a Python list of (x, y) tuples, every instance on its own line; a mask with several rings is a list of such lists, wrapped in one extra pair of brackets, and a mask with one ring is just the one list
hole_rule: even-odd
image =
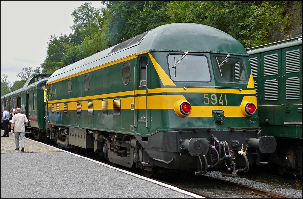
[(208, 61), (203, 55), (168, 55), (167, 60), (173, 81), (208, 82), (211, 80)]

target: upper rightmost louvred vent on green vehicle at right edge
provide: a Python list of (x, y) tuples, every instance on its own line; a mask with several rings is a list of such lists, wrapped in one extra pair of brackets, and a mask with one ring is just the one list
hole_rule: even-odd
[(286, 73), (300, 72), (300, 50), (286, 52)]

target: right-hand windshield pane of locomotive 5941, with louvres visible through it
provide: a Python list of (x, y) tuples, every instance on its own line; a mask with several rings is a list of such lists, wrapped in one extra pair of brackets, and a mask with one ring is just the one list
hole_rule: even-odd
[(244, 61), (228, 56), (213, 56), (215, 76), (219, 82), (247, 83)]

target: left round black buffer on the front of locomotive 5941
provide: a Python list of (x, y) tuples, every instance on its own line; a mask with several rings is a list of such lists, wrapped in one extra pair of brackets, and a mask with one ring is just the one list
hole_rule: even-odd
[(180, 140), (180, 150), (188, 150), (191, 155), (206, 155), (209, 143), (206, 138), (191, 138), (190, 140)]

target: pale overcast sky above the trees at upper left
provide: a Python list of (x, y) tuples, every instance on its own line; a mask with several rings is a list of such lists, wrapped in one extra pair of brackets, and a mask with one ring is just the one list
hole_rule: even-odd
[(23, 67), (40, 67), (51, 35), (69, 35), (72, 11), (85, 2), (101, 7), (101, 1), (1, 1), (1, 79), (7, 75), (12, 85)]

